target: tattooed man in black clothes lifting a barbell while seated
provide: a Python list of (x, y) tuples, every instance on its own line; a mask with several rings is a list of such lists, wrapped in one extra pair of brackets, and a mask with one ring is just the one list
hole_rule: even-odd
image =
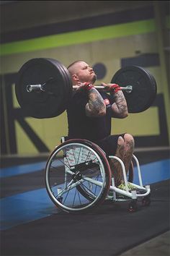
[[(134, 150), (134, 139), (128, 133), (110, 135), (111, 119), (128, 116), (125, 97), (116, 84), (105, 84), (105, 91), (94, 88), (97, 75), (84, 61), (75, 61), (68, 67), (73, 85), (78, 85), (68, 103), (68, 138), (80, 138), (97, 143), (107, 155), (116, 155), (125, 164), (126, 172), (130, 167)], [(112, 92), (112, 95), (108, 93)], [(110, 161), (115, 185), (125, 189), (122, 167), (117, 161)], [(130, 184), (128, 184), (129, 188)]]

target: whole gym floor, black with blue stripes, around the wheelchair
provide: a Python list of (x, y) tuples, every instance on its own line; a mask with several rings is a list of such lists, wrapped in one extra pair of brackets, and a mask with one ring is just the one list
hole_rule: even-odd
[(151, 184), (151, 205), (135, 213), (128, 202), (64, 213), (45, 189), (47, 156), (1, 158), (1, 255), (170, 255), (169, 150), (135, 155)]

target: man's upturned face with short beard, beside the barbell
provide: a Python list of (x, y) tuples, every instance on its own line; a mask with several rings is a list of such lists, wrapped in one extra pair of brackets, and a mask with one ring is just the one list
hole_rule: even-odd
[(91, 82), (92, 84), (97, 80), (97, 75), (94, 73), (92, 67), (84, 61), (75, 64), (75, 74), (79, 78), (79, 82)]

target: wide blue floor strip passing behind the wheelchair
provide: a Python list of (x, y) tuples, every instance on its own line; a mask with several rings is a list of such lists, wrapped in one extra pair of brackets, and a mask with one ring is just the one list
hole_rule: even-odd
[[(26, 168), (35, 171), (35, 166), (40, 167), (44, 163), (37, 163)], [(170, 179), (170, 159), (147, 163), (140, 166), (143, 178), (143, 185), (154, 184)], [(18, 168), (18, 167), (17, 167)], [(22, 166), (23, 168), (23, 166)], [(14, 167), (9, 171), (13, 175), (19, 175)], [(3, 169), (4, 172), (4, 169)], [(137, 169), (135, 168), (135, 176)], [(138, 179), (134, 179), (134, 183), (138, 184)], [(1, 230), (10, 229), (21, 223), (35, 221), (39, 218), (45, 218), (54, 213), (58, 213), (58, 209), (51, 202), (45, 188), (35, 189), (29, 192), (23, 192), (10, 197), (4, 197), (0, 200), (1, 206)]]

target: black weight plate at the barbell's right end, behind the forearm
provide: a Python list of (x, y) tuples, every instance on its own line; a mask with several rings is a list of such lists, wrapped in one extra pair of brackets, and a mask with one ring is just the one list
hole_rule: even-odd
[(129, 113), (145, 111), (156, 97), (156, 82), (142, 67), (124, 67), (115, 73), (111, 82), (117, 83), (121, 87), (133, 86), (131, 93), (123, 91)]

